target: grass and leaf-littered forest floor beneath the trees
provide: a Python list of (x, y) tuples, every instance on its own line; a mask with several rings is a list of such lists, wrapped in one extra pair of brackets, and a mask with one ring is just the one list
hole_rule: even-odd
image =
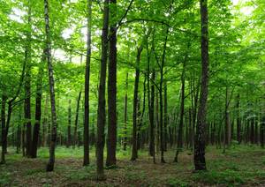
[(95, 181), (95, 151), (91, 165), (82, 167), (82, 147), (57, 147), (55, 171), (46, 173), (48, 148), (39, 158), (23, 158), (8, 150), (6, 165), (0, 166), (0, 186), (265, 186), (265, 150), (258, 146), (232, 146), (225, 153), (215, 146), (207, 148), (207, 172), (193, 172), (193, 155), (180, 153), (173, 163), (174, 151), (165, 161), (154, 164), (147, 151), (130, 161), (130, 152), (118, 151), (117, 168), (105, 169), (107, 180)]

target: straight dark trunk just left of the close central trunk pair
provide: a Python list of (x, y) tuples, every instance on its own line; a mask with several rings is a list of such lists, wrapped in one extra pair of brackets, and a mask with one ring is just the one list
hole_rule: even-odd
[(84, 161), (83, 165), (89, 164), (89, 80), (90, 80), (90, 59), (91, 59), (91, 21), (92, 21), (92, 0), (87, 0), (87, 59), (85, 75), (85, 113), (84, 113)]

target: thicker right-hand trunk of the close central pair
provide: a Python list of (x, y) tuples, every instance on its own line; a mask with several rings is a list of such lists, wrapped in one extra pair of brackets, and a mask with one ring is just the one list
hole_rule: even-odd
[(117, 0), (110, 0), (110, 56), (108, 76), (108, 143), (106, 166), (116, 165), (117, 145)]

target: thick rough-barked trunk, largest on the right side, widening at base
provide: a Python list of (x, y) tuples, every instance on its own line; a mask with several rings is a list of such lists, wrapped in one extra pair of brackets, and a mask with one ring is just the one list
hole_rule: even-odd
[(208, 99), (208, 3), (201, 0), (201, 95), (194, 139), (195, 170), (205, 170), (205, 129)]

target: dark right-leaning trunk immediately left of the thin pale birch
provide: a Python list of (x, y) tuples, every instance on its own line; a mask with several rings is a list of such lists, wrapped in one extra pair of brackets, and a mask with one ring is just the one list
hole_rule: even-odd
[[(45, 54), (45, 51), (44, 51)], [(44, 62), (45, 58), (42, 59)], [(32, 141), (32, 149), (31, 149), (31, 157), (37, 157), (37, 147), (39, 142), (39, 134), (40, 134), (40, 123), (42, 117), (42, 76), (43, 76), (43, 68), (42, 64), (40, 65), (40, 69), (38, 72), (37, 79), (37, 92), (36, 92), (36, 101), (35, 101), (35, 124), (34, 124), (34, 135)]]

